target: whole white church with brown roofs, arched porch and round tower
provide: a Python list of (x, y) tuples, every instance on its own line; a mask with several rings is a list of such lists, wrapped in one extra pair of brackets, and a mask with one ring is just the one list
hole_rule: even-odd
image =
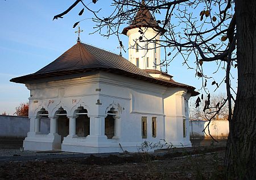
[[(38, 72), (11, 79), (30, 90), (24, 149), (137, 152), (144, 141), (163, 139), (191, 146), (188, 100), (198, 93), (160, 71), (159, 32), (164, 30), (150, 11), (141, 8), (122, 32), (129, 36), (129, 60), (78, 39)], [(43, 117), (50, 121), (48, 134), (40, 132)]]

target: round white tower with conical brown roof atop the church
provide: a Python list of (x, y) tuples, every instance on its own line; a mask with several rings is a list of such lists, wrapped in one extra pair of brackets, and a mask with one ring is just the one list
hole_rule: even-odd
[(133, 23), (123, 29), (122, 34), (129, 36), (128, 60), (140, 69), (160, 71), (160, 35), (165, 30), (158, 25), (144, 1)]

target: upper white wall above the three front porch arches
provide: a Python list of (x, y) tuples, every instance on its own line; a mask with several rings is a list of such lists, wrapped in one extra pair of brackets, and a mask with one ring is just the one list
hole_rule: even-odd
[[(97, 75), (65, 79), (61, 81), (40, 82), (26, 85), (30, 89), (29, 116), (36, 116), (40, 108), (44, 107), (53, 116), (57, 108), (62, 106), (72, 115), (72, 108), (79, 103), (86, 103), (89, 106), (96, 106), (98, 99)], [(96, 106), (97, 107), (97, 106)], [(96, 108), (91, 114), (97, 114)]]

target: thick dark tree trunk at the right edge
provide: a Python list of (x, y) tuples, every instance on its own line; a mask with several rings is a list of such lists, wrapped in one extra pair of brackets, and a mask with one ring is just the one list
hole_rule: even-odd
[(238, 88), (225, 165), (228, 178), (256, 179), (256, 1), (235, 2)]

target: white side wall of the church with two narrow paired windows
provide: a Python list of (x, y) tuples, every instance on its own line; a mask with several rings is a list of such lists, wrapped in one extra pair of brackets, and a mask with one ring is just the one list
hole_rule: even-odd
[[(156, 143), (164, 139), (163, 86), (136, 79), (101, 73), (103, 103), (118, 103), (122, 107), (120, 141), (141, 145), (143, 141)], [(103, 105), (103, 104), (102, 104)], [(104, 106), (102, 106), (104, 107)], [(142, 139), (142, 116), (147, 117), (147, 139)], [(152, 117), (156, 117), (156, 137), (152, 137)], [(121, 144), (122, 144), (121, 143)]]

